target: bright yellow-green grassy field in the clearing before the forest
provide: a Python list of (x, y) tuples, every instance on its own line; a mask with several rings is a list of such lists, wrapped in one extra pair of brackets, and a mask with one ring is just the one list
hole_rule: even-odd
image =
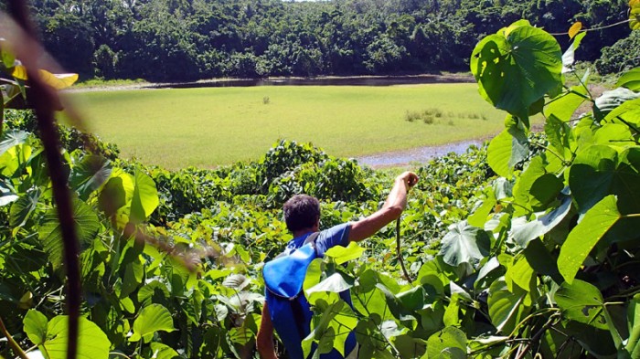
[[(123, 157), (167, 168), (257, 159), (279, 138), (312, 142), (347, 157), (458, 142), (500, 132), (505, 117), (482, 100), (475, 84), (466, 83), (87, 91), (69, 96), (86, 115), (87, 127), (118, 144)], [(438, 110), (432, 111), (431, 125), (403, 121), (407, 111), (425, 108)], [(479, 113), (488, 120), (449, 121), (449, 112)]]

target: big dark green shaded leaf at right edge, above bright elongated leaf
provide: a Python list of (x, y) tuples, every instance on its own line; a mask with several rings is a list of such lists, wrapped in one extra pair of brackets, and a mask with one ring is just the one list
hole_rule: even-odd
[(618, 154), (611, 146), (590, 146), (571, 166), (569, 185), (581, 214), (607, 195), (618, 196), (624, 215), (640, 212), (640, 148)]

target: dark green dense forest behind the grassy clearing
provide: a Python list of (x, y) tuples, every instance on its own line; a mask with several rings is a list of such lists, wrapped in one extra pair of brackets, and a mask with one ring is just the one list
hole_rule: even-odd
[[(468, 69), (478, 39), (524, 18), (595, 29), (578, 60), (628, 37), (626, 0), (33, 0), (45, 47), (82, 79), (408, 74)], [(601, 29), (602, 28), (602, 29)], [(561, 46), (569, 38), (556, 35)], [(629, 48), (629, 44), (622, 48)], [(637, 65), (615, 49), (601, 72)], [(613, 61), (613, 62), (612, 62)], [(602, 62), (602, 61), (601, 61)]]

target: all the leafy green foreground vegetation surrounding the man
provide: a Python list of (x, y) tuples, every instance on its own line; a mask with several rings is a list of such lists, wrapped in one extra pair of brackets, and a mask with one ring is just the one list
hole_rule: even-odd
[[(572, 32), (562, 54), (520, 20), (477, 44), (472, 72), (481, 96), (507, 112), (504, 132), (421, 168), (399, 233), (383, 228), (363, 247), (314, 260), (304, 281), (315, 311), (306, 353), (312, 343), (315, 354), (344, 352), (355, 331), (363, 358), (637, 356), (640, 69), (593, 98), (573, 67), (584, 34)], [(4, 63), (14, 81), (3, 96), (20, 96), (15, 62)], [(564, 86), (569, 77), (580, 85)], [(585, 102), (591, 110), (581, 112)], [(530, 133), (537, 114), (541, 135)], [(63, 357), (71, 339), (42, 155), (33, 133), (4, 129), (6, 356), (35, 345)], [(81, 148), (64, 159), (82, 246), (80, 357), (255, 356), (261, 264), (291, 238), (283, 200), (317, 195), (329, 227), (375, 211), (393, 178), (284, 141), (259, 162), (209, 171), (172, 173)], [(337, 295), (345, 289), (353, 306)]]

